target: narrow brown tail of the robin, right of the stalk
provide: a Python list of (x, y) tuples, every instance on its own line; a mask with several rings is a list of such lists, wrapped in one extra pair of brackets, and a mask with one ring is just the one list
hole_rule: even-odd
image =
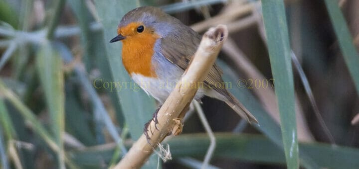
[(246, 119), (249, 123), (253, 122), (258, 124), (257, 119), (231, 93), (228, 92), (228, 96), (226, 96), (226, 98), (227, 99), (223, 101), (226, 102), (237, 114)]

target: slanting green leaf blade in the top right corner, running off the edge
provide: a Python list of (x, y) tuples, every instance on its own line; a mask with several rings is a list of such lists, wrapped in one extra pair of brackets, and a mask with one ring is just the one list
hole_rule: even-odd
[(342, 50), (344, 60), (347, 64), (357, 92), (359, 94), (359, 55), (353, 43), (346, 20), (338, 6), (337, 0), (325, 0), (332, 25), (337, 34), (339, 46)]

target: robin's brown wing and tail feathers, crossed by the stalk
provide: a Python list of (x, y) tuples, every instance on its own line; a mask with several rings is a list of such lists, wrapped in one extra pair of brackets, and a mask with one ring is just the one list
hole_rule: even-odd
[[(176, 64), (182, 70), (185, 70), (189, 65), (191, 57), (197, 50), (201, 36), (189, 27), (183, 25), (178, 25), (178, 27), (178, 30), (180, 31), (172, 32), (171, 35), (161, 39), (161, 51), (167, 60)], [(225, 87), (216, 87), (215, 84), (218, 82), (223, 84), (221, 78), (222, 74), (220, 68), (214, 64), (209, 70), (208, 75), (205, 77), (204, 84), (225, 96), (227, 100), (224, 101), (242, 118), (246, 119), (248, 122), (258, 123), (256, 118), (232, 94), (230, 94)]]

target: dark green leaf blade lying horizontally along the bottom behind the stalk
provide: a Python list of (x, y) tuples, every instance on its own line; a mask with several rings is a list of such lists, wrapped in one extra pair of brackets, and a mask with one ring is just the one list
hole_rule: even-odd
[[(257, 134), (214, 133), (217, 149), (213, 159), (243, 160), (259, 164), (286, 164), (283, 151), (270, 139)], [(201, 158), (206, 154), (210, 141), (205, 133), (181, 134), (167, 141), (171, 145), (174, 159), (186, 157)], [(127, 147), (131, 145), (127, 144)], [(79, 164), (95, 166), (109, 161), (116, 145), (89, 147), (71, 151), (69, 154)], [(359, 149), (323, 143), (300, 143), (301, 149), (318, 162), (314, 169), (356, 169), (359, 161)], [(351, 157), (351, 158), (348, 158)]]

